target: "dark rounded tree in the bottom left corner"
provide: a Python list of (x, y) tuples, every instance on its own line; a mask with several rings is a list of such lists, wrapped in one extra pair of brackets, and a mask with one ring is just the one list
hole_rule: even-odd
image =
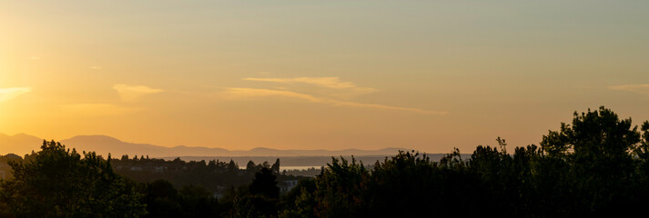
[(84, 157), (43, 142), (31, 161), (10, 163), (14, 179), (0, 183), (3, 217), (138, 217), (146, 213), (134, 187), (95, 153)]

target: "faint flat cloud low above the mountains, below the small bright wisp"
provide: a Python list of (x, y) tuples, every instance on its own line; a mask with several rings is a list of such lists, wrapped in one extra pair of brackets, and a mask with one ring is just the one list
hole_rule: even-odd
[(63, 104), (60, 108), (66, 113), (84, 116), (122, 115), (141, 110), (115, 104)]

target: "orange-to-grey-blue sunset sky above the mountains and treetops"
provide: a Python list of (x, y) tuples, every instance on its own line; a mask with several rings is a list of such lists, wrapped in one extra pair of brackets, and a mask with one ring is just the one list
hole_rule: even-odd
[(538, 144), (649, 119), (649, 1), (0, 0), (0, 133), (247, 150)]

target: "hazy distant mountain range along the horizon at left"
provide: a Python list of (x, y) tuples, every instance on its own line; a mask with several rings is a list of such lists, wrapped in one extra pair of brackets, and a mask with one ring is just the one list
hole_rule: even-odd
[[(228, 150), (224, 148), (190, 147), (178, 145), (175, 147), (159, 146), (154, 144), (127, 143), (117, 138), (106, 135), (77, 135), (60, 141), (67, 148), (75, 148), (77, 152), (94, 151), (96, 154), (111, 154), (113, 157), (120, 157), (123, 154), (129, 156), (144, 155), (149, 157), (173, 157), (173, 156), (340, 156), (340, 155), (394, 155), (401, 151), (410, 151), (405, 148), (384, 148), (380, 150), (279, 150), (265, 147), (253, 148), (250, 150)], [(32, 151), (39, 151), (43, 139), (29, 134), (7, 135), (0, 134), (0, 154), (30, 154)]]

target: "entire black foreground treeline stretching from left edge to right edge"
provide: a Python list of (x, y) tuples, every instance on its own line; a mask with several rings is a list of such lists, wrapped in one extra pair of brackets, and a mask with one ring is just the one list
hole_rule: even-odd
[[(571, 124), (544, 135), (540, 145), (512, 149), (500, 137), (497, 143), (478, 146), (468, 158), (455, 149), (439, 162), (400, 152), (371, 169), (353, 158), (332, 158), (288, 193), (279, 188), (279, 163), (248, 163), (249, 171), (238, 173), (249, 173), (249, 182), (230, 185), (217, 198), (199, 185), (127, 180), (113, 173), (115, 160), (93, 153), (81, 159), (52, 142), (31, 161), (12, 163), (15, 178), (0, 183), (0, 216), (87, 217), (101, 204), (113, 210), (92, 216), (621, 217), (644, 214), (649, 203), (649, 122), (638, 128), (601, 107), (575, 113)], [(209, 165), (191, 163), (181, 171), (192, 164)]]

